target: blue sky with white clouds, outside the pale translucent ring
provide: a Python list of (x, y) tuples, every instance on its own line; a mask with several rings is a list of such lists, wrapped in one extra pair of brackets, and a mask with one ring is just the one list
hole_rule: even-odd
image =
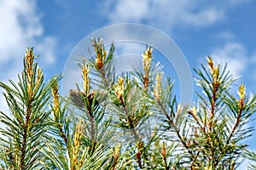
[[(255, 93), (255, 8), (255, 0), (1, 0), (0, 81), (16, 80), (27, 46), (40, 54), (49, 78), (63, 71), (74, 46), (92, 31), (130, 22), (172, 37), (191, 68), (207, 55), (228, 62)], [(6, 110), (3, 102), (0, 106)], [(255, 141), (253, 136), (252, 149)]]

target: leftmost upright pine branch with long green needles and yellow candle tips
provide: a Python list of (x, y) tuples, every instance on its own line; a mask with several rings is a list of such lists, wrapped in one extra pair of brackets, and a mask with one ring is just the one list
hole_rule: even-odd
[(32, 48), (26, 49), (24, 70), (18, 82), (0, 82), (9, 113), (1, 112), (1, 167), (2, 169), (35, 169), (40, 166), (44, 135), (50, 126), (48, 105), (50, 91), (60, 77), (44, 82), (44, 74)]

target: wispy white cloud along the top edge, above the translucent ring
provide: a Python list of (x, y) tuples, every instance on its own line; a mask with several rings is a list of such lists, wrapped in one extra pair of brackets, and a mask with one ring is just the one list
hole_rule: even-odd
[(212, 26), (226, 19), (227, 11), (250, 0), (107, 0), (104, 16), (112, 23), (143, 22), (172, 31), (175, 26)]

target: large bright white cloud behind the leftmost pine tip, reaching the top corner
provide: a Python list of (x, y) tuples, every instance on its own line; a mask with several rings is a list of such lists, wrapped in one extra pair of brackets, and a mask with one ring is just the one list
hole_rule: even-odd
[[(41, 67), (55, 63), (55, 38), (44, 37), (44, 26), (40, 17), (34, 0), (0, 1), (1, 82), (8, 82), (8, 79), (17, 80), (17, 74), (23, 67), (22, 59), (26, 47), (33, 46), (35, 54), (40, 54), (41, 60), (44, 61), (41, 62)], [(2, 95), (1, 91), (2, 89)], [(3, 101), (3, 95), (0, 99)], [(5, 103), (1, 102), (0, 110), (7, 111)]]

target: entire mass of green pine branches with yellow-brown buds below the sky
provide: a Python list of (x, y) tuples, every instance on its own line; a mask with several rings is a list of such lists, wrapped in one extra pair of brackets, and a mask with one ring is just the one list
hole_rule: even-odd
[[(79, 63), (82, 84), (59, 95), (61, 76), (44, 82), (32, 48), (18, 82), (0, 82), (9, 113), (0, 114), (0, 168), (236, 169), (247, 151), (256, 96), (211, 57), (195, 69), (193, 105), (177, 102), (174, 83), (153, 65), (153, 48), (136, 71), (115, 76), (114, 45), (92, 38)], [(256, 166), (251, 165), (256, 169)]]

